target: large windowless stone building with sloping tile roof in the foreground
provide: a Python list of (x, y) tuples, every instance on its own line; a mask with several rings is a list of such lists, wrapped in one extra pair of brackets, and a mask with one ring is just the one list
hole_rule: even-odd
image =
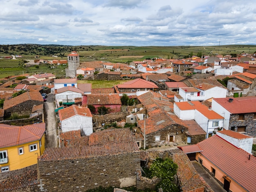
[(46, 148), (38, 159), (38, 170), (47, 191), (135, 186), (139, 147), (136, 142), (126, 142)]

